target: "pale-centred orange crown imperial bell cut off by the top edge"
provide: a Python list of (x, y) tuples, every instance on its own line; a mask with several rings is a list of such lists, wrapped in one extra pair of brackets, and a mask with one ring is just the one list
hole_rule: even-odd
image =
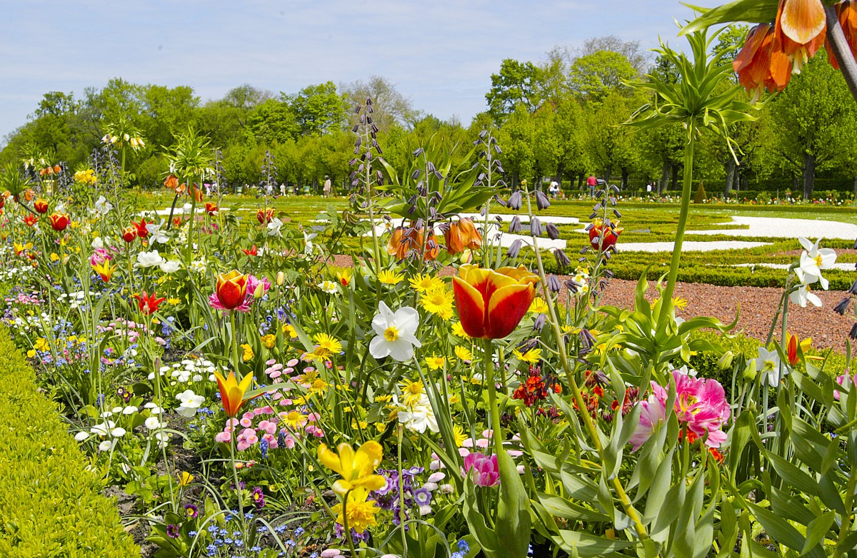
[(780, 0), (776, 10), (776, 39), (794, 67), (794, 73), (824, 45), (827, 15), (821, 0)]

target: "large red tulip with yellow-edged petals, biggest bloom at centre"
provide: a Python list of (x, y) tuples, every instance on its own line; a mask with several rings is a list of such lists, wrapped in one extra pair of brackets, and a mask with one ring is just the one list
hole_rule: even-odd
[(458, 277), (452, 277), (452, 291), (464, 333), (482, 339), (512, 333), (536, 298), (536, 282), (538, 276), (524, 266), (483, 270), (462, 265)]

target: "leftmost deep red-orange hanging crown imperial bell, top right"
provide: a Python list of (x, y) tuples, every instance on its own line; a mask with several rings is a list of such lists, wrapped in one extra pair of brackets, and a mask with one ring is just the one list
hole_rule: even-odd
[(792, 77), (788, 56), (768, 23), (752, 28), (732, 68), (740, 84), (757, 99), (765, 88), (781, 92)]

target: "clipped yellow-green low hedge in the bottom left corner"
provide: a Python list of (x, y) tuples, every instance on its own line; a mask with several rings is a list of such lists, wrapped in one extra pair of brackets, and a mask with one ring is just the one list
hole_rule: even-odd
[(103, 479), (0, 329), (0, 556), (139, 558)]

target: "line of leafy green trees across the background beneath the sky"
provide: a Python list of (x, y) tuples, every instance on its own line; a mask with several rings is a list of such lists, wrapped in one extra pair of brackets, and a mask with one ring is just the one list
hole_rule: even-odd
[[(734, 57), (744, 35), (746, 27), (731, 27), (713, 48)], [(626, 190), (655, 182), (663, 192), (676, 189), (680, 176), (682, 130), (620, 126), (651, 102), (632, 86), (648, 74), (678, 79), (674, 68), (638, 42), (613, 36), (590, 39), (577, 50), (556, 47), (538, 61), (506, 59), (491, 76), (487, 110), (467, 126), (415, 109), (380, 76), (339, 86), (327, 81), (298, 92), (243, 85), (205, 103), (189, 86), (115, 78), (80, 96), (45, 93), (27, 122), (6, 137), (0, 164), (38, 153), (79, 169), (105, 129), (125, 119), (145, 140), (126, 163), (133, 181), (143, 186), (163, 181), (165, 150), (176, 134), (193, 128), (219, 149), (231, 186), (263, 181), (267, 159), (279, 183), (317, 187), (329, 176), (345, 187), (356, 139), (351, 108), (373, 98), (379, 143), (394, 168), (404, 168), (406, 157), (429, 141), (463, 160), (476, 134), (494, 128), (512, 187), (549, 178), (567, 192), (594, 174)], [(721, 86), (735, 83), (733, 76)], [(769, 106), (758, 121), (731, 131), (737, 161), (722, 140), (701, 139), (694, 176), (709, 193), (792, 189), (794, 197), (802, 192), (810, 198), (817, 182), (821, 189), (853, 187), (857, 193), (857, 107), (826, 56), (814, 57), (785, 92), (763, 100)]]

